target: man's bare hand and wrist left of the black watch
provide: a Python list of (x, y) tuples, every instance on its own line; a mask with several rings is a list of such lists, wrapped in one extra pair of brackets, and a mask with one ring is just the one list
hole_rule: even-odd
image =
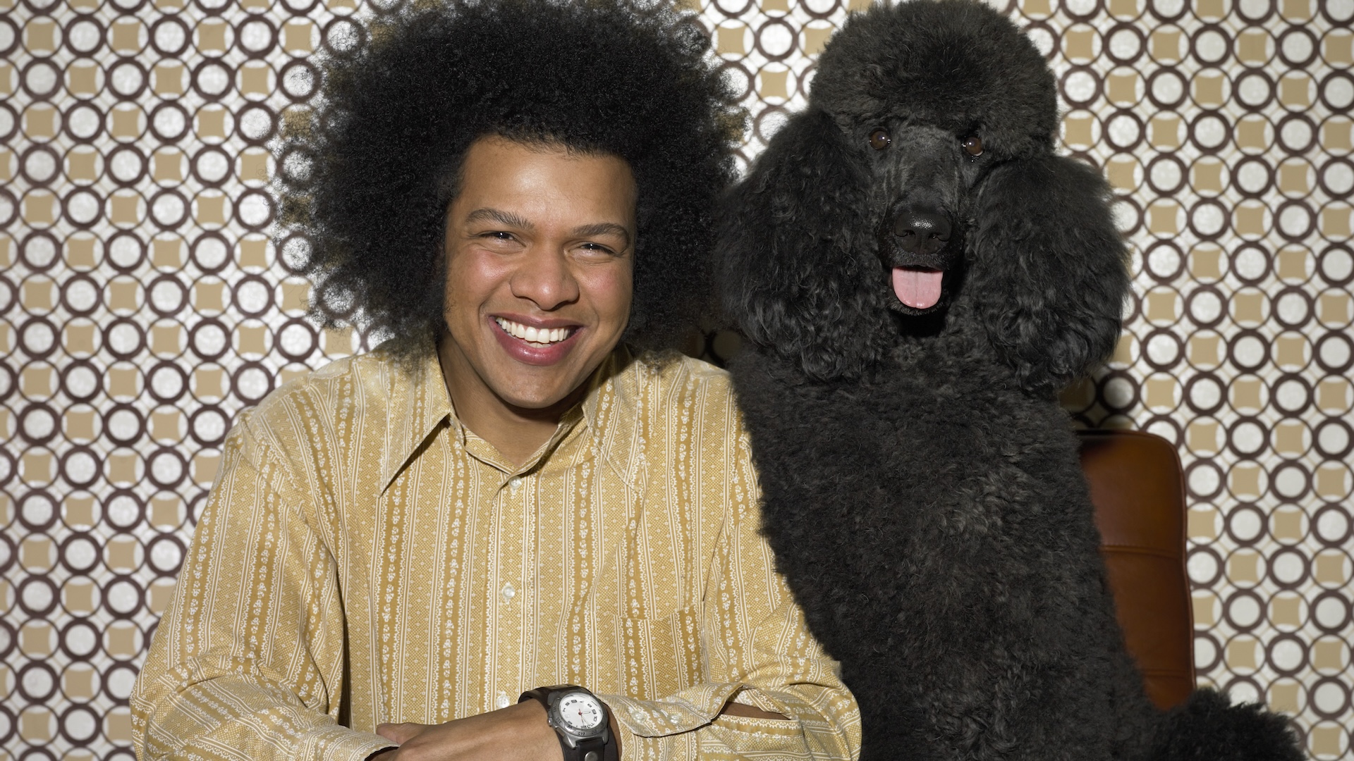
[(559, 735), (546, 723), (536, 700), (447, 722), (445, 724), (378, 724), (376, 734), (399, 747), (372, 756), (376, 761), (563, 761)]

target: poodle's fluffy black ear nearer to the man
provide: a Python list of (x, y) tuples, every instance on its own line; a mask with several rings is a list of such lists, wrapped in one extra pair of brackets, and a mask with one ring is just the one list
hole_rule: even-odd
[[(869, 175), (818, 108), (776, 133), (720, 211), (718, 272), (727, 316), (757, 345), (807, 375), (853, 375), (879, 349), (862, 320), (860, 241)], [(877, 317), (875, 318), (877, 321)]]

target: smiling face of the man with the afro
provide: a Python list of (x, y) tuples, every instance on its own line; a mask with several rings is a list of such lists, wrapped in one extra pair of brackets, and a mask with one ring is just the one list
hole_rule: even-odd
[(458, 398), (550, 408), (616, 347), (634, 290), (635, 194), (616, 156), (500, 137), (470, 146), (447, 210), (443, 357)]

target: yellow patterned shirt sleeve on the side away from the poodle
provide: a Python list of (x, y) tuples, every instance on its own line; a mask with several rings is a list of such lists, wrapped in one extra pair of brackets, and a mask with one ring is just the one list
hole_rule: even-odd
[(137, 757), (362, 760), (393, 743), (338, 723), (337, 567), (307, 497), (245, 413), (131, 695)]

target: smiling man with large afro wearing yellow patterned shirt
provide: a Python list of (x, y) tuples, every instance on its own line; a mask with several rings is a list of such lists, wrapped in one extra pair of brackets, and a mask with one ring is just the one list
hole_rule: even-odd
[(236, 422), (139, 757), (857, 754), (727, 379), (621, 345), (689, 324), (727, 103), (680, 22), (605, 3), (410, 12), (336, 56), (282, 245), (393, 337)]

